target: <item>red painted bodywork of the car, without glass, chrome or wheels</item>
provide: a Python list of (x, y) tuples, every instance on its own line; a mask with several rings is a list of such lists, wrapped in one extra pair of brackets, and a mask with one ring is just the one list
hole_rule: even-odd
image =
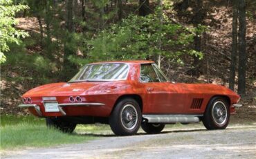
[[(103, 63), (103, 62), (102, 62)], [(46, 113), (42, 97), (56, 97), (57, 102), (69, 103), (69, 96), (80, 96), (82, 102), (100, 102), (104, 106), (66, 106), (66, 115), (91, 115), (108, 117), (118, 97), (139, 95), (143, 100), (143, 113), (196, 113), (203, 114), (209, 100), (215, 95), (230, 99), (230, 113), (235, 109), (232, 104), (239, 100), (239, 95), (216, 84), (173, 84), (171, 82), (140, 83), (140, 64), (152, 61), (122, 61), (129, 64), (127, 80), (117, 82), (77, 82), (46, 84), (33, 88), (22, 97), (31, 97), (33, 104), (38, 104), (43, 116), (61, 116), (61, 113)], [(77, 91), (73, 91), (76, 89)], [(194, 98), (203, 98), (200, 109), (190, 109)], [(33, 108), (31, 113), (37, 115)]]

